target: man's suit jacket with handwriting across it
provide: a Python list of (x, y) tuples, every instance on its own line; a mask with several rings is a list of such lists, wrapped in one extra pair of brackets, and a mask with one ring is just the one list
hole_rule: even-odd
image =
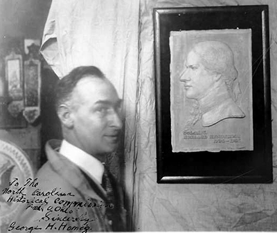
[[(13, 230), (19, 225), (41, 228), (40, 232), (125, 231), (123, 192), (118, 184), (114, 187), (116, 204), (111, 206), (99, 183), (57, 152), (59, 148), (60, 140), (47, 142), (48, 162), (37, 173), (37, 186), (28, 188), (28, 203)], [(114, 218), (108, 217), (109, 208)]]

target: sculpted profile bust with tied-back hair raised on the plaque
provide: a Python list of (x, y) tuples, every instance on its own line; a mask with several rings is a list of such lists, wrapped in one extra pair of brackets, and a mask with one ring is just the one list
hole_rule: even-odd
[(202, 41), (189, 51), (180, 81), (186, 98), (196, 100), (186, 128), (202, 120), (211, 127), (228, 118), (244, 118), (236, 101), (240, 94), (238, 71), (231, 48), (221, 41)]

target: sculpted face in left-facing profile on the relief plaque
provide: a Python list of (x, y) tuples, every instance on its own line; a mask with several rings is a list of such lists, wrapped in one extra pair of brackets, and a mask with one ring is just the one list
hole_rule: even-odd
[(181, 73), (180, 81), (185, 83), (186, 97), (195, 100), (206, 96), (215, 83), (213, 75), (206, 71), (199, 56), (193, 51), (188, 53), (186, 68)]

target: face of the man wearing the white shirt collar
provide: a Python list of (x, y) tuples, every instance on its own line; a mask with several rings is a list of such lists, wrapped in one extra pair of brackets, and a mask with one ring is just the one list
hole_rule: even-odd
[(96, 158), (114, 151), (122, 128), (121, 100), (114, 86), (108, 80), (84, 77), (72, 100), (76, 145)]

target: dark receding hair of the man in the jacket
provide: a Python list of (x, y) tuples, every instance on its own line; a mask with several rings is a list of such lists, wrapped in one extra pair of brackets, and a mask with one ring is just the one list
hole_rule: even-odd
[(55, 87), (55, 109), (58, 106), (69, 100), (73, 88), (83, 77), (93, 76), (100, 79), (105, 79), (105, 75), (96, 66), (79, 66), (74, 68), (68, 75), (64, 76), (62, 80), (57, 82)]

